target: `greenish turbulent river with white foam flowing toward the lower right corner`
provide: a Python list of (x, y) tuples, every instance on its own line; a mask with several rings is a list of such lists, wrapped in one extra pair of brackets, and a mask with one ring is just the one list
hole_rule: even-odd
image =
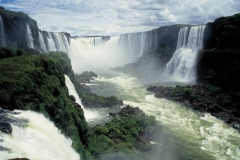
[[(166, 85), (166, 84), (161, 84)], [(167, 84), (174, 85), (174, 84)], [(240, 135), (223, 121), (209, 114), (200, 114), (178, 103), (157, 99), (136, 78), (126, 75), (101, 77), (92, 81), (92, 91), (104, 96), (114, 95), (125, 104), (140, 107), (156, 117), (169, 140), (166, 160), (237, 160), (240, 159)]]

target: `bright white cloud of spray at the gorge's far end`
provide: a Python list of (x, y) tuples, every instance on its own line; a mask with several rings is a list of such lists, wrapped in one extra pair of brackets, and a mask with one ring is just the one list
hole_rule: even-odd
[(94, 71), (104, 73), (109, 68), (129, 63), (118, 45), (118, 37), (111, 37), (106, 44), (90, 43), (89, 38), (72, 38), (70, 58), (75, 73)]

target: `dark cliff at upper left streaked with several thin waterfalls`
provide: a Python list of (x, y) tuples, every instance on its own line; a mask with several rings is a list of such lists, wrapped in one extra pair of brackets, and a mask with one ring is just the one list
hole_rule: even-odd
[[(12, 12), (0, 8), (3, 31), (1, 41), (11, 49), (29, 48), (40, 51), (63, 51), (69, 53), (70, 34), (39, 30), (37, 22), (22, 12)], [(3, 35), (4, 34), (4, 35)], [(3, 36), (2, 36), (3, 35)]]

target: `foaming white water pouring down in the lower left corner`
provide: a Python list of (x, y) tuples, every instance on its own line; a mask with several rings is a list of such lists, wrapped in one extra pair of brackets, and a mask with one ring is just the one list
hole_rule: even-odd
[(31, 160), (80, 160), (80, 156), (71, 147), (72, 141), (64, 137), (42, 114), (32, 111), (16, 112), (20, 114), (8, 116), (28, 122), (22, 125), (12, 124), (11, 135), (0, 132), (0, 139), (3, 140), (1, 146), (10, 149), (0, 150), (0, 160), (23, 157)]

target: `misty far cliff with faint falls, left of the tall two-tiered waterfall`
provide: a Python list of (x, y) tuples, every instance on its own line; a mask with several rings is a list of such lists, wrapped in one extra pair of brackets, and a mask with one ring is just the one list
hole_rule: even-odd
[(175, 50), (178, 33), (189, 25), (164, 26), (147, 32), (126, 33), (120, 36), (119, 44), (132, 60), (153, 53), (155, 49), (168, 47)]

